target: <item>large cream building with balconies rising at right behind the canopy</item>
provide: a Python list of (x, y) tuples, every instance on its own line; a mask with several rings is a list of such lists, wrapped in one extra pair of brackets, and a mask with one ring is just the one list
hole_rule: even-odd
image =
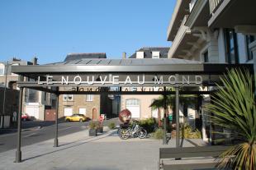
[[(168, 58), (254, 63), (256, 68), (255, 7), (254, 0), (177, 0), (167, 31), (167, 39), (172, 42)], [(201, 106), (211, 101), (209, 95), (201, 97)], [(211, 140), (206, 111), (198, 107), (195, 114), (202, 119), (203, 140)]]

